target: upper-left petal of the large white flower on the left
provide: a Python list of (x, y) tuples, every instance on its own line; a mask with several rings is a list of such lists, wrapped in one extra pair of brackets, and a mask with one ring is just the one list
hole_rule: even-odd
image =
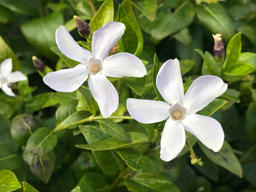
[(93, 57), (91, 52), (79, 46), (70, 35), (66, 27), (59, 26), (55, 33), (56, 43), (61, 52), (72, 60), (87, 63)]

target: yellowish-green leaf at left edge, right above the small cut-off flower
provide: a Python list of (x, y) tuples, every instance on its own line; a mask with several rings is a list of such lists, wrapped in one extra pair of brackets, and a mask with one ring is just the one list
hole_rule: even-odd
[(21, 67), (18, 58), (0, 36), (0, 62), (8, 58), (12, 58), (12, 71), (20, 71)]

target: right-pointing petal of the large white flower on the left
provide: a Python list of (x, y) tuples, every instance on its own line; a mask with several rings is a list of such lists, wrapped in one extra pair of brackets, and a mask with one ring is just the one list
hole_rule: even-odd
[(110, 77), (143, 77), (146, 67), (142, 61), (130, 53), (117, 53), (103, 62), (104, 74)]

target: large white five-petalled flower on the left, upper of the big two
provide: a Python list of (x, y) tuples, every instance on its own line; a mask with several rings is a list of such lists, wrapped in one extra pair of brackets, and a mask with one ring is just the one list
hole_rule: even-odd
[(43, 81), (60, 92), (73, 92), (88, 78), (92, 96), (98, 103), (104, 118), (118, 107), (118, 93), (106, 76), (143, 77), (146, 68), (142, 61), (130, 53), (117, 53), (108, 57), (110, 49), (119, 41), (125, 25), (119, 22), (105, 24), (92, 36), (92, 53), (80, 47), (64, 26), (56, 30), (56, 43), (61, 52), (72, 60), (80, 62), (71, 69), (49, 72)]

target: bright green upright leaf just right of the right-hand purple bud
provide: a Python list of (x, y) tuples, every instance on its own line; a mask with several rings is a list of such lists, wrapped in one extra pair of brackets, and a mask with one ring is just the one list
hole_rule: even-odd
[(224, 72), (230, 71), (230, 68), (237, 63), (241, 53), (241, 32), (237, 33), (229, 41), (226, 49), (226, 59), (223, 63)]

